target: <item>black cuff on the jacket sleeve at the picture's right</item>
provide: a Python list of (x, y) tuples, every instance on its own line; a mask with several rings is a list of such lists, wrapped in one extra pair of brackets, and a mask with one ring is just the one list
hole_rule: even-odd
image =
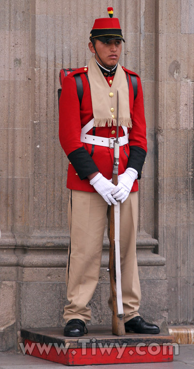
[(137, 179), (141, 178), (142, 168), (146, 158), (146, 151), (138, 146), (129, 146), (130, 154), (127, 168), (136, 169), (138, 172)]

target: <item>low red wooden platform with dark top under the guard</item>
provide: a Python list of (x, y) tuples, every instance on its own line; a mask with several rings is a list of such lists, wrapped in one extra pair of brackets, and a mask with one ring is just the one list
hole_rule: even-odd
[(110, 326), (88, 326), (83, 337), (64, 337), (63, 328), (21, 329), (24, 354), (64, 365), (156, 363), (173, 361), (174, 337), (112, 335)]

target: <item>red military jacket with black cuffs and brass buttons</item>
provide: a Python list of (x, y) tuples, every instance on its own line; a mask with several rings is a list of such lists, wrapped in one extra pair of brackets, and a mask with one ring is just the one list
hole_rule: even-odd
[[(134, 168), (138, 171), (138, 179), (146, 157), (146, 121), (144, 115), (144, 100), (140, 77), (122, 67), (128, 74), (137, 77), (137, 97), (134, 100), (133, 87), (129, 76), (129, 106), (132, 128), (128, 128), (129, 144), (120, 147), (119, 173), (126, 168)], [(107, 179), (112, 178), (113, 149), (109, 147), (82, 143), (81, 128), (93, 118), (92, 99), (90, 86), (85, 76), (87, 68), (80, 68), (64, 78), (62, 93), (59, 102), (59, 139), (62, 148), (70, 160), (67, 173), (67, 188), (87, 192), (96, 192), (90, 185), (87, 176), (99, 171)], [(80, 74), (83, 84), (83, 97), (80, 102), (77, 94), (77, 86), (74, 76)], [(108, 83), (113, 77), (106, 77)], [(111, 84), (109, 83), (109, 86)], [(116, 127), (94, 127), (89, 135), (100, 137), (116, 137)], [(119, 137), (124, 136), (122, 127), (119, 127)], [(138, 182), (135, 180), (131, 191), (138, 190)]]

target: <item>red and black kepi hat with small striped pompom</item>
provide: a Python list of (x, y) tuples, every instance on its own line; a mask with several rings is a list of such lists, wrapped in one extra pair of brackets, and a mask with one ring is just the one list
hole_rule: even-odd
[(94, 26), (90, 32), (90, 40), (97, 38), (102, 42), (110, 39), (121, 39), (125, 42), (118, 18), (113, 18), (113, 8), (107, 8), (110, 18), (95, 19)]

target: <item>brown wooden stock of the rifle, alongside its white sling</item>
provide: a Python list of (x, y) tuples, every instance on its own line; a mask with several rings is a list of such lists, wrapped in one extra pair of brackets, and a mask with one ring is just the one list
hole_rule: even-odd
[[(113, 173), (113, 185), (118, 184), (118, 175)], [(112, 317), (112, 333), (116, 336), (125, 335), (125, 325), (123, 317), (118, 316), (117, 301), (116, 301), (116, 271), (115, 271), (115, 243), (114, 243), (114, 205), (111, 205), (109, 217), (109, 274), (113, 296), (113, 317)]]

